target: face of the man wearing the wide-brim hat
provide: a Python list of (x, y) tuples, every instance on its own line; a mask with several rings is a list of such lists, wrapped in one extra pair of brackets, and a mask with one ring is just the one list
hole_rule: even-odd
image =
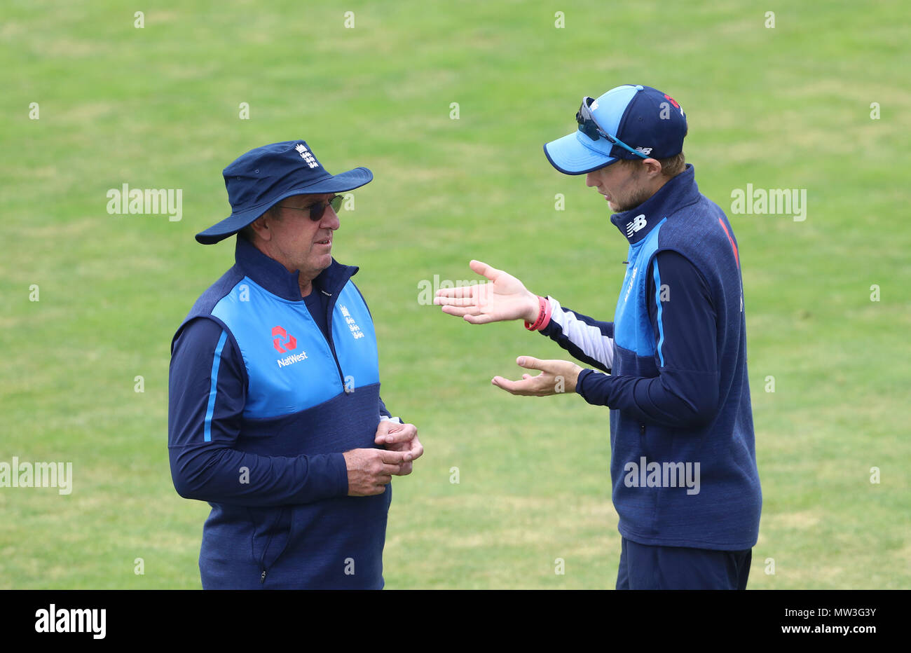
[(325, 203), (333, 195), (295, 195), (282, 199), (281, 207), (293, 209), (281, 209), (281, 219), (269, 222), (272, 258), (289, 270), (301, 270), (302, 279), (314, 279), (333, 262), (333, 236), (341, 224), (339, 217), (327, 205), (322, 219), (314, 222), (310, 219), (310, 209), (306, 209), (312, 204)]

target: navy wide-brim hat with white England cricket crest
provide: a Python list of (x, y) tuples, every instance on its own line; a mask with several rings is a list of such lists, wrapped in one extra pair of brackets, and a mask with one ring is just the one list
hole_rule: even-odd
[(231, 214), (196, 234), (196, 240), (203, 245), (212, 245), (237, 233), (273, 204), (292, 195), (341, 193), (374, 179), (374, 173), (367, 168), (330, 174), (303, 140), (285, 140), (251, 149), (221, 174), (228, 189)]

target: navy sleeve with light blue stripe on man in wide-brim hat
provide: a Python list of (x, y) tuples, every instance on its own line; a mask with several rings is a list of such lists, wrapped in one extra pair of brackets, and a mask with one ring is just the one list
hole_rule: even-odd
[(343, 454), (258, 455), (241, 437), (246, 377), (220, 324), (200, 318), (179, 332), (169, 373), (168, 449), (178, 494), (235, 505), (306, 504), (348, 494)]

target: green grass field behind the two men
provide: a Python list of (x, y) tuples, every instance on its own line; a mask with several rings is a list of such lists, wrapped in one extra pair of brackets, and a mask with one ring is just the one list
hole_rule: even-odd
[[(232, 239), (193, 240), (230, 212), (221, 168), (292, 138), (333, 173), (374, 171), (333, 255), (361, 266), (384, 400), (426, 448), (394, 481), (386, 587), (613, 587), (607, 409), (497, 390), (518, 354), (564, 352), (445, 316), (418, 286), (472, 279), (477, 258), (610, 319), (626, 241), (541, 145), (580, 97), (628, 83), (681, 102), (725, 210), (748, 183), (807, 189), (804, 221), (728, 211), (763, 483), (749, 587), (911, 587), (903, 3), (190, 0), (148, 4), (142, 28), (138, 9), (0, 9), (0, 462), (74, 474), (70, 495), (0, 487), (0, 588), (200, 587), (209, 506), (171, 485), (169, 342), (233, 261)], [(109, 215), (123, 183), (182, 189), (183, 218)]]

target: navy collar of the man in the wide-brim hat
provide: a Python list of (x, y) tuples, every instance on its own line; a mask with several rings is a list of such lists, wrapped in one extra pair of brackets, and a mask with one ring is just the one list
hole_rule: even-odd
[[(270, 259), (245, 238), (237, 236), (234, 246), (236, 266), (247, 277), (287, 301), (303, 301), (299, 277), (301, 270), (289, 272), (277, 260)], [(322, 270), (313, 280), (313, 291), (322, 291), (330, 296), (342, 291), (344, 284), (357, 273), (357, 266), (342, 265), (337, 260)]]

